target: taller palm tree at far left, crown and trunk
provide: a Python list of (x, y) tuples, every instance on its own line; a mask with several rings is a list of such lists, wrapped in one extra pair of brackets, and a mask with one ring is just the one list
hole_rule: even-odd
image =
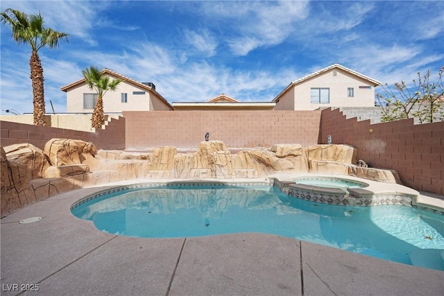
[(44, 109), (44, 79), (42, 62), (37, 51), (44, 46), (50, 49), (58, 47), (60, 40), (68, 42), (68, 34), (44, 28), (43, 17), (40, 15), (26, 15), (19, 10), (8, 8), (1, 12), (0, 21), (9, 24), (12, 29), (12, 37), (17, 44), (29, 44), (31, 46), (31, 81), (33, 85), (34, 124), (46, 125)]

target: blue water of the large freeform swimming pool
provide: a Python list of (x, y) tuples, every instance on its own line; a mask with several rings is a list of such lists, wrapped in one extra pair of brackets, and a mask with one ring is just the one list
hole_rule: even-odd
[[(345, 207), (293, 198), (273, 186), (160, 186), (109, 193), (71, 209), (111, 234), (144, 238), (277, 234), (444, 270), (444, 218), (411, 207)], [(430, 250), (434, 250), (430, 252)], [(419, 256), (418, 256), (419, 254)], [(417, 265), (417, 264), (416, 264)]]

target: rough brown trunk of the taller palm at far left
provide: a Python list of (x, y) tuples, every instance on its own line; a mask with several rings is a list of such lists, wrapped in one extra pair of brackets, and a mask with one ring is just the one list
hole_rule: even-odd
[(34, 125), (46, 126), (44, 109), (43, 68), (37, 51), (31, 53), (29, 60), (31, 67), (31, 81), (33, 85)]

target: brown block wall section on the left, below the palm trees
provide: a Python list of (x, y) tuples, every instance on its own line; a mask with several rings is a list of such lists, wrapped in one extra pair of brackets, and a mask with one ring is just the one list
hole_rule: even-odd
[(0, 121), (0, 143), (3, 147), (16, 143), (31, 143), (43, 150), (47, 141), (53, 138), (61, 138), (92, 142), (98, 149), (125, 149), (125, 125), (126, 120), (123, 117), (119, 117), (119, 119), (111, 119), (104, 130), (83, 132), (80, 130)]

